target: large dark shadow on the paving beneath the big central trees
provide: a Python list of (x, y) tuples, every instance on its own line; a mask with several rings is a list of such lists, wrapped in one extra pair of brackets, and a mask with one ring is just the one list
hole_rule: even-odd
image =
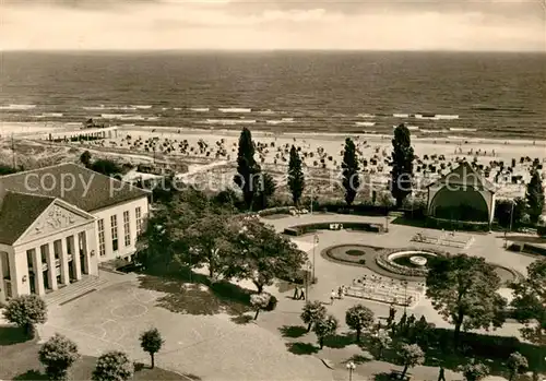
[(176, 277), (140, 275), (139, 282), (141, 288), (165, 294), (156, 305), (171, 312), (240, 315), (252, 310), (250, 295), (254, 291), (225, 281), (211, 285), (206, 276), (191, 271)]

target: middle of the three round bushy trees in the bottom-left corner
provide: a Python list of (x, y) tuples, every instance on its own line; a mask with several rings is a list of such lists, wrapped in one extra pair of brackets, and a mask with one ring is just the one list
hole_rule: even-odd
[(56, 333), (39, 348), (38, 358), (49, 380), (68, 380), (69, 368), (80, 358), (78, 346)]

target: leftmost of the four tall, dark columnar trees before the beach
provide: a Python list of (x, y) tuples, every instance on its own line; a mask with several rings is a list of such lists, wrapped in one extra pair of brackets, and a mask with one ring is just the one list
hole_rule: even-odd
[(254, 143), (252, 134), (246, 127), (239, 136), (239, 151), (237, 154), (237, 175), (234, 177), (235, 183), (242, 191), (242, 199), (248, 210), (252, 210), (256, 191), (259, 187), (258, 178), (261, 172), (260, 165), (254, 159)]

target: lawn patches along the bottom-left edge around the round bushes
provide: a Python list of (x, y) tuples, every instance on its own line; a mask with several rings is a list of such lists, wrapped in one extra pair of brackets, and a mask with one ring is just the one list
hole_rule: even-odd
[[(12, 326), (0, 326), (0, 380), (47, 380), (44, 374), (44, 367), (38, 360), (40, 346), (38, 340), (26, 340), (21, 330)], [(71, 368), (70, 378), (72, 380), (91, 380), (93, 369), (97, 358), (82, 356)], [(132, 380), (199, 380), (198, 377), (178, 373), (154, 368), (146, 365), (136, 366)]]

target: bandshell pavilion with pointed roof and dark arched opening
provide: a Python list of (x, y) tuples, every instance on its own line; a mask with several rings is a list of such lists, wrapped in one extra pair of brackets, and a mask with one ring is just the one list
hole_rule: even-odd
[(492, 223), (495, 186), (467, 162), (428, 187), (429, 217), (451, 222)]

